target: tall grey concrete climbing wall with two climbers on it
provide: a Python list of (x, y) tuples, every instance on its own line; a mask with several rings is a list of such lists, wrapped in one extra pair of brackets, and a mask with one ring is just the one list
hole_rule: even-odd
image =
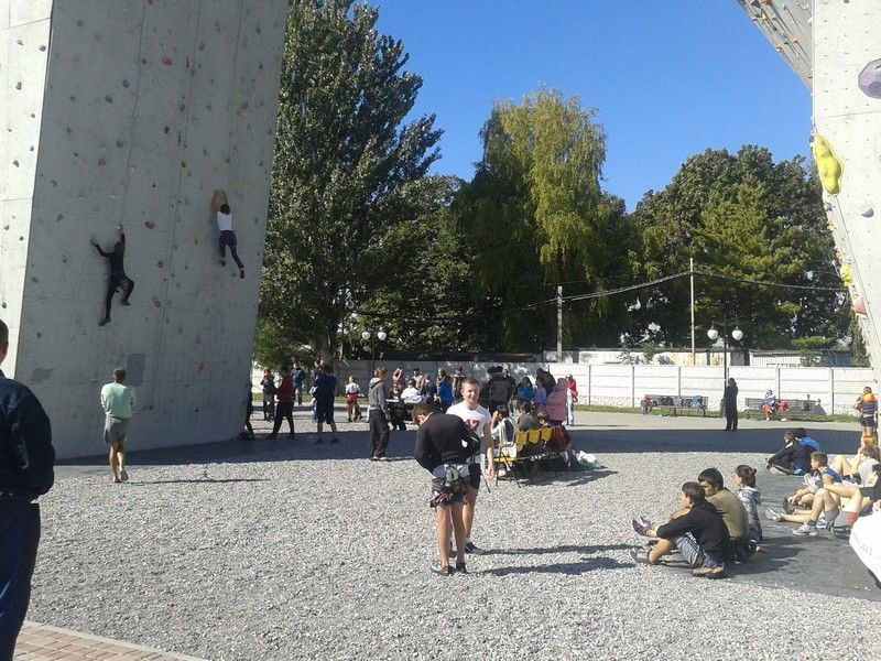
[[(0, 0), (0, 318), (7, 373), (61, 456), (102, 452), (98, 393), (128, 369), (133, 447), (243, 421), (286, 0)], [(219, 263), (225, 189), (246, 278)], [(117, 226), (131, 306), (99, 327)]]

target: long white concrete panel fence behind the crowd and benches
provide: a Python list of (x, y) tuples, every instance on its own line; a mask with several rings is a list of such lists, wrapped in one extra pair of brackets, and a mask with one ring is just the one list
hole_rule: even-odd
[[(463, 371), (480, 381), (487, 378), (487, 368), (503, 365), (511, 370), (516, 380), (523, 376), (535, 378), (535, 369), (542, 367), (556, 378), (572, 375), (578, 383), (578, 402), (581, 404), (639, 407), (644, 394), (670, 394), (708, 398), (709, 407), (716, 409), (722, 398), (724, 368), (717, 366), (676, 365), (580, 365), (563, 362), (448, 362), (415, 360), (390, 362), (377, 360), (391, 372), (402, 367), (410, 377), (413, 368), (435, 377), (444, 368), (453, 373), (461, 365)], [(349, 375), (354, 375), (362, 390), (367, 390), (370, 373), (369, 360), (350, 360), (337, 364), (340, 390)], [(871, 386), (878, 392), (878, 384), (870, 368), (859, 367), (753, 367), (733, 366), (728, 368), (740, 390), (738, 408), (743, 409), (747, 398), (764, 397), (773, 390), (780, 399), (819, 400), (818, 412), (852, 413), (853, 402), (863, 387)], [(253, 383), (258, 384), (262, 372), (255, 368)]]

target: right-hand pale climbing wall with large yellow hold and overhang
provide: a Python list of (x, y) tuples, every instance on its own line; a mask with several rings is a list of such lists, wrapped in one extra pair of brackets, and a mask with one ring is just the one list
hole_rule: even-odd
[(881, 380), (881, 2), (739, 2), (812, 90), (829, 231)]

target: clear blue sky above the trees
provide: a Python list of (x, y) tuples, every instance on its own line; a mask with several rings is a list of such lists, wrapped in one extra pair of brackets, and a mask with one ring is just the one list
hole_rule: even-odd
[(807, 154), (811, 96), (736, 0), (371, 0), (444, 130), (437, 173), (469, 180), (493, 101), (545, 85), (599, 110), (606, 191), (628, 208), (689, 155)]

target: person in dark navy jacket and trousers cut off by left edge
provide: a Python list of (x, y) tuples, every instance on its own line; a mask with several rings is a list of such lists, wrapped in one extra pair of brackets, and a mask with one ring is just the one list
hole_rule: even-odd
[[(0, 321), (0, 364), (9, 328)], [(12, 659), (40, 545), (36, 498), (55, 481), (52, 425), (40, 401), (0, 371), (0, 659)]]

